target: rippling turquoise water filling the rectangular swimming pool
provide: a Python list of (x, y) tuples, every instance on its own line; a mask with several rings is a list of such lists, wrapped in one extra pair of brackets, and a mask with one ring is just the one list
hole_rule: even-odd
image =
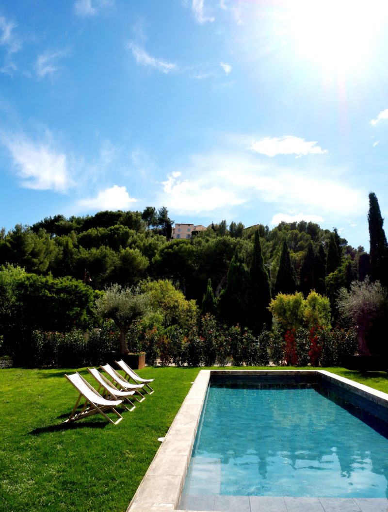
[(386, 423), (312, 385), (208, 390), (182, 496), (386, 498)]

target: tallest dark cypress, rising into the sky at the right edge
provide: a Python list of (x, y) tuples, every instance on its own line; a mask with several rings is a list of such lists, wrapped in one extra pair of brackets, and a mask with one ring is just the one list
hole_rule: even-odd
[(381, 217), (380, 206), (376, 195), (371, 192), (369, 194), (369, 238), (370, 248), (370, 265), (371, 280), (380, 280), (381, 284), (386, 286), (387, 280), (387, 243), (383, 229), (384, 219)]

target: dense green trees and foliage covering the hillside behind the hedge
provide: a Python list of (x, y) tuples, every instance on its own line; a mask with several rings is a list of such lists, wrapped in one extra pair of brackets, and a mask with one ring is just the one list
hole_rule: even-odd
[[(261, 224), (245, 228), (232, 222), (228, 226), (222, 220), (191, 239), (170, 240), (173, 221), (166, 207), (147, 206), (143, 212), (100, 211), (95, 216), (69, 219), (58, 215), (33, 226), (17, 225), (8, 233), (3, 230), (3, 351), (20, 355), (24, 350), (25, 359), (29, 359), (34, 330), (66, 334), (74, 328), (99, 328), (103, 317), (115, 319), (121, 330), (119, 350), (126, 351), (127, 333), (134, 319), (141, 317), (139, 340), (150, 360), (160, 359), (166, 364), (173, 358), (198, 361), (202, 357), (196, 355), (202, 350), (201, 316), (211, 313), (220, 326), (225, 326), (223, 340), (228, 329), (236, 326), (241, 335), (256, 339), (263, 329), (271, 329), (270, 300), (279, 292), (300, 292), (303, 300), (316, 297), (311, 293), (317, 292), (326, 297), (325, 307), (330, 304), (330, 319), (316, 318), (314, 328), (328, 330), (330, 324), (346, 327), (338, 311), (339, 290), (350, 290), (351, 283), (364, 280), (370, 268), (381, 274), (382, 267), (376, 261), (386, 258), (374, 194), (370, 195), (368, 219), (371, 248), (376, 249), (374, 260), (371, 249), (371, 266), (363, 247), (354, 249), (336, 228), (320, 229), (312, 222), (282, 222), (270, 230)], [(119, 307), (112, 303), (113, 289), (116, 298), (119, 290), (138, 289), (136, 294), (144, 302), (125, 322), (119, 321)], [(306, 322), (300, 326), (307, 328)], [(370, 332), (377, 326), (383, 333), (386, 326), (381, 315)], [(177, 346), (181, 335), (189, 340), (189, 351), (183, 350), (184, 344), (182, 350)], [(379, 335), (378, 341), (374, 351), (383, 352), (379, 344), (385, 344), (384, 336)], [(170, 355), (171, 344), (176, 345), (174, 356)], [(231, 357), (239, 360), (238, 355)]]

